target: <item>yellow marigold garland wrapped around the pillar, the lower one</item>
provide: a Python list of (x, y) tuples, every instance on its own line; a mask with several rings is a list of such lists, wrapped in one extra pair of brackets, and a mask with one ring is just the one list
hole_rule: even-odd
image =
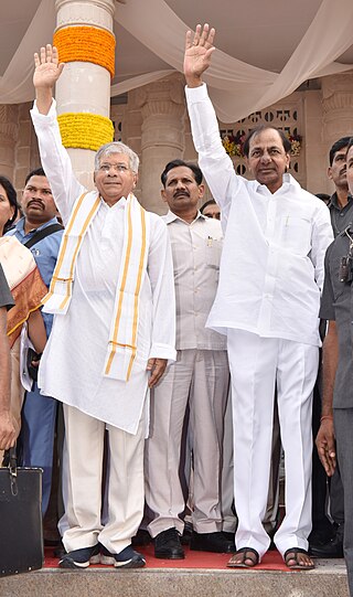
[(109, 118), (97, 114), (65, 113), (57, 116), (64, 147), (97, 151), (114, 139), (114, 126)]

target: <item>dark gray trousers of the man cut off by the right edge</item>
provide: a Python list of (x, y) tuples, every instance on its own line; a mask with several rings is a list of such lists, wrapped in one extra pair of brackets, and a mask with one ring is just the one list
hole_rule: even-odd
[(344, 493), (344, 558), (353, 597), (353, 408), (334, 408), (333, 417)]

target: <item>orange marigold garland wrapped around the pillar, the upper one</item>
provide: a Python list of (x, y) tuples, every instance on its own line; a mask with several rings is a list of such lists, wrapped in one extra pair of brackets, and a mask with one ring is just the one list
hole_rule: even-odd
[(96, 26), (67, 26), (54, 33), (61, 62), (93, 62), (115, 73), (115, 36)]

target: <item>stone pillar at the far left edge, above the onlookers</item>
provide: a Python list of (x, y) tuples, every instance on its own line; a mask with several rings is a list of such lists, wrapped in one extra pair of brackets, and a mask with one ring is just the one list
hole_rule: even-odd
[(0, 106), (0, 172), (13, 181), (15, 142), (18, 139), (19, 107)]

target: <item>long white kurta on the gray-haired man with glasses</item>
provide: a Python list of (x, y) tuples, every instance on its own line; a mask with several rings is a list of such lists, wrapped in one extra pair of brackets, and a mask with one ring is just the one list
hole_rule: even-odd
[[(55, 103), (47, 116), (31, 111), (42, 166), (66, 223), (84, 192), (72, 172), (61, 142)], [(55, 316), (44, 350), (39, 384), (43, 394), (136, 434), (148, 394), (149, 358), (174, 360), (174, 281), (167, 226), (150, 218), (147, 275), (140, 294), (137, 356), (129, 382), (103, 375), (124, 244), (122, 198), (113, 207), (103, 200), (77, 257), (72, 301), (65, 316)], [(147, 409), (148, 411), (148, 409)]]

